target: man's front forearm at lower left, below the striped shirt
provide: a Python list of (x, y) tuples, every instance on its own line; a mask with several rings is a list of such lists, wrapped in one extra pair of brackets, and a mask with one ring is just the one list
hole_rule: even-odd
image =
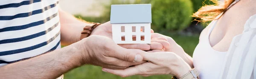
[(77, 46), (67, 46), (47, 54), (0, 68), (0, 79), (55, 79), (80, 66)]

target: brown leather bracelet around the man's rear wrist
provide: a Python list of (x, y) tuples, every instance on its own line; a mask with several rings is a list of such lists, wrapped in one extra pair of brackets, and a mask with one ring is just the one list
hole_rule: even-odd
[(93, 29), (96, 28), (97, 26), (101, 25), (100, 23), (93, 23), (94, 25), (86, 25), (84, 27), (84, 30), (81, 32), (80, 40), (89, 37), (90, 34), (92, 33)]

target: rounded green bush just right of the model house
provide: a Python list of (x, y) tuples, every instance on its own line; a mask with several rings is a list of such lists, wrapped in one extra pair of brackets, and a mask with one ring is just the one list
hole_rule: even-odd
[(190, 0), (152, 0), (151, 4), (154, 30), (183, 30), (191, 23)]

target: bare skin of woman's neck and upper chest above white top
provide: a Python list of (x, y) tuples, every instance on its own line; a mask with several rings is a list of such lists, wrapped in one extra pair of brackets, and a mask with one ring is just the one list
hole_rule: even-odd
[(228, 9), (219, 18), (211, 34), (209, 42), (216, 51), (228, 51), (233, 37), (242, 34), (244, 24), (250, 16), (256, 14), (253, 7), (245, 7), (243, 3), (237, 3)]

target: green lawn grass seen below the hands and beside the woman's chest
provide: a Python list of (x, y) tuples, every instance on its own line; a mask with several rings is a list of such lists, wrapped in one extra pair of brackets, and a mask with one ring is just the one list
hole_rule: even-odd
[[(182, 36), (175, 33), (162, 31), (160, 34), (172, 37), (183, 49), (192, 56), (193, 51), (198, 44), (198, 35), (195, 36)], [(171, 63), (171, 62), (170, 62)], [(158, 76), (130, 76), (130, 77), (119, 77), (110, 73), (101, 71), (101, 67), (93, 65), (85, 65), (76, 68), (66, 74), (64, 79), (171, 79), (171, 75), (158, 75)]]

